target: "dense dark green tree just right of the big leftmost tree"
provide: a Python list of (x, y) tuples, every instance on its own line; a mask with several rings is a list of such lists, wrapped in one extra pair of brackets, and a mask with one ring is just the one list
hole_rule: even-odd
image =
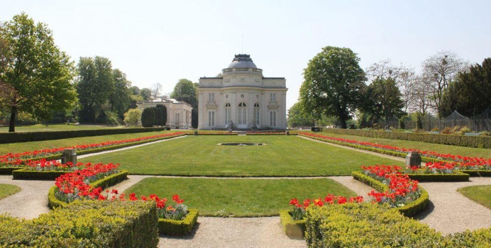
[(81, 57), (78, 75), (79, 121), (94, 123), (99, 116), (104, 115), (102, 106), (109, 102), (114, 90), (111, 61), (99, 56)]

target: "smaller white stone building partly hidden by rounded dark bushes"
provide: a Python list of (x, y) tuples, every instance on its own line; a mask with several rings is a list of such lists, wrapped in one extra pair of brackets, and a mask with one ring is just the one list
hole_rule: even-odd
[(136, 106), (140, 111), (148, 107), (155, 107), (157, 104), (165, 105), (167, 108), (166, 126), (176, 129), (187, 129), (191, 127), (191, 105), (184, 101), (167, 98), (166, 96), (157, 97), (146, 102), (138, 102)]

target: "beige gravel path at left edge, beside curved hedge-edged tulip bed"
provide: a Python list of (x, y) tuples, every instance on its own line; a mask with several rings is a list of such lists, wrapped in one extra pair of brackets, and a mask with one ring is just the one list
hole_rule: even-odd
[(32, 219), (50, 211), (48, 191), (54, 181), (13, 180), (12, 176), (0, 175), (0, 184), (16, 185), (21, 190), (0, 200), (0, 214)]

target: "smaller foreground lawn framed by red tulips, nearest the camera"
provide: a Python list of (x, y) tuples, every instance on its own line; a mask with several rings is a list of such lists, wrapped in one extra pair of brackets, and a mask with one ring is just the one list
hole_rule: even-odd
[[(330, 179), (207, 179), (146, 178), (125, 194), (157, 194), (172, 202), (179, 194), (189, 208), (204, 216), (272, 216), (289, 209), (292, 198), (324, 198), (327, 193), (355, 196), (355, 192)], [(221, 212), (221, 213), (220, 213)]]

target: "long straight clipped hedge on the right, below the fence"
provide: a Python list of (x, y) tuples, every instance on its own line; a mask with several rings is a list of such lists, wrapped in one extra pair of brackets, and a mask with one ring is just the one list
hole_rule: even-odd
[(411, 141), (422, 141), (435, 144), (457, 145), (467, 147), (491, 148), (490, 136), (465, 136), (454, 134), (435, 134), (418, 132), (386, 132), (374, 130), (357, 130), (341, 128), (324, 128), (324, 132), (335, 134), (347, 134), (365, 136), (371, 138), (400, 139)]

